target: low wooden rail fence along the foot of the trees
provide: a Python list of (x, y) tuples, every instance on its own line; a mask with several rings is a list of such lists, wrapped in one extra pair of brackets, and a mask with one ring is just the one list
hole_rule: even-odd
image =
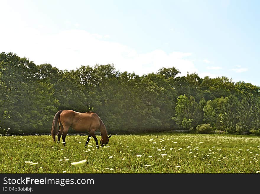
[[(108, 132), (108, 135), (125, 135), (125, 134), (138, 134), (138, 133), (158, 133), (158, 132), (183, 132), (190, 133), (189, 130), (167, 130), (167, 129), (147, 129), (147, 130), (127, 130), (127, 131), (111, 131)], [(215, 131), (215, 133), (226, 133), (225, 131)], [(88, 135), (88, 133), (68, 133), (69, 135)], [(100, 135), (100, 132), (95, 132), (96, 135)], [(8, 133), (6, 136), (37, 136), (37, 135), (51, 135), (51, 133)], [(244, 132), (243, 135), (252, 135), (251, 132)]]

